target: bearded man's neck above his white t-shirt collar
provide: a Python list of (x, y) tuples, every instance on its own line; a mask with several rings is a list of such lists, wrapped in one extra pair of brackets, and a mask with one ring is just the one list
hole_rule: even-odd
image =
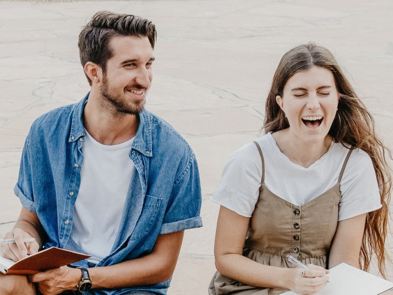
[(135, 136), (138, 115), (116, 112), (97, 90), (91, 89), (83, 112), (84, 128), (103, 145), (121, 144)]

